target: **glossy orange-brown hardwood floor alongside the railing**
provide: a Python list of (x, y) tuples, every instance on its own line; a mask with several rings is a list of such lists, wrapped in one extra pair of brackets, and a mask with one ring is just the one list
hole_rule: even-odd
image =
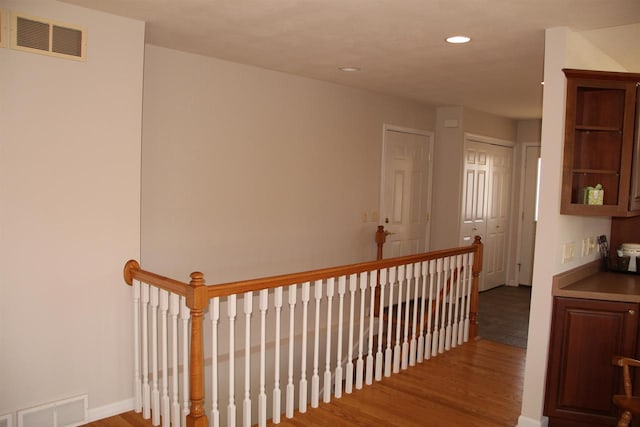
[[(522, 348), (478, 340), (278, 425), (513, 427), (520, 414), (524, 358)], [(125, 413), (87, 425), (151, 423)]]

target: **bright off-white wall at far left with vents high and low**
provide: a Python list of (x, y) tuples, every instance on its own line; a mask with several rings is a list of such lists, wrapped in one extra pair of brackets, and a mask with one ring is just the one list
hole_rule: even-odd
[(86, 62), (0, 49), (0, 414), (132, 396), (144, 24), (45, 0), (0, 7), (87, 28)]

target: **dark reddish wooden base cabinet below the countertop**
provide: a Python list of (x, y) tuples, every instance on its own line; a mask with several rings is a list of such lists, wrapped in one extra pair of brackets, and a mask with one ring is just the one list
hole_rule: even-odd
[(615, 426), (622, 391), (613, 355), (636, 356), (640, 304), (554, 299), (545, 415), (549, 426)]

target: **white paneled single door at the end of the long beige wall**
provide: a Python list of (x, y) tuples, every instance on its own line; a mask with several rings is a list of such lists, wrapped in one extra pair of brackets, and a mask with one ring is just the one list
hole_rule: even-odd
[(380, 214), (385, 258), (428, 250), (432, 135), (386, 128)]

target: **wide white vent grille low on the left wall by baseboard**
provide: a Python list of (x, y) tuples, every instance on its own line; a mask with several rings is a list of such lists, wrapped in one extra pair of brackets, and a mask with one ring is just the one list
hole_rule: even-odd
[(86, 423), (88, 396), (72, 397), (18, 411), (18, 427), (73, 427)]

